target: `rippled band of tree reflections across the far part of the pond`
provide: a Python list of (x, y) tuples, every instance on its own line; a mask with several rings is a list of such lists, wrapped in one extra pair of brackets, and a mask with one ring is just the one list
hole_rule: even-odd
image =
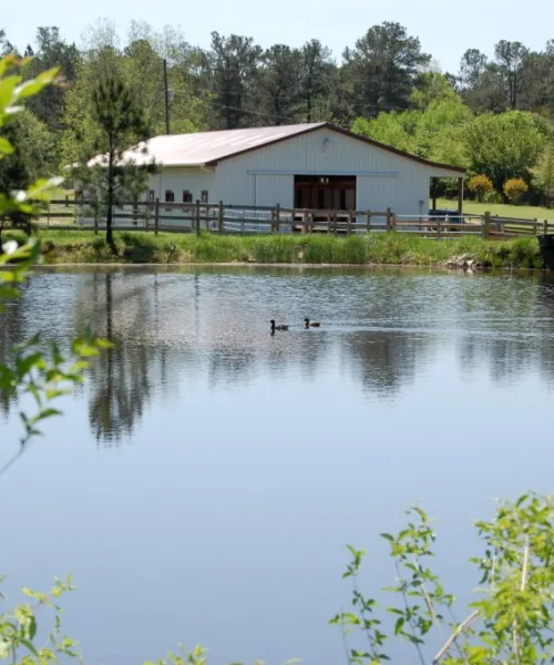
[[(130, 440), (156, 401), (205, 383), (212, 391), (299, 377), (347, 376), (363, 393), (396, 399), (452, 349), (461, 375), (486, 369), (510, 385), (537, 372), (554, 382), (554, 284), (510, 276), (287, 270), (101, 270), (32, 277), (10, 304), (0, 351), (31, 334), (69, 340), (84, 325), (114, 342), (90, 372), (90, 428), (99, 443)], [(25, 314), (27, 313), (27, 314)], [(305, 330), (305, 316), (324, 320)], [(269, 318), (291, 324), (269, 335)], [(334, 379), (336, 380), (336, 379)], [(10, 405), (0, 403), (7, 415)]]

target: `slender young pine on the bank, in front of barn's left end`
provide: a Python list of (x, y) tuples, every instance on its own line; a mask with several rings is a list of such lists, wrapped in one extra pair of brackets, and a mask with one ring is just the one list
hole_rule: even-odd
[[(150, 126), (138, 101), (117, 75), (100, 81), (91, 102), (96, 132), (89, 150), (96, 156), (92, 162), (85, 157), (74, 175), (82, 191), (105, 211), (106, 243), (115, 252), (113, 206), (136, 201), (155, 171), (143, 143), (150, 137)], [(126, 153), (131, 146), (134, 152)]]

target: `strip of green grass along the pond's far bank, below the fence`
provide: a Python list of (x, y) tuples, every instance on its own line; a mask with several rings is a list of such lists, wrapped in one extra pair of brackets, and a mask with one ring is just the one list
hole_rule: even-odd
[[(267, 263), (443, 265), (468, 255), (486, 267), (540, 268), (535, 238), (490, 242), (476, 237), (437, 241), (399, 233), (335, 236), (217, 236), (116, 233), (117, 255), (103, 236), (89, 232), (41, 231), (44, 263)], [(3, 238), (24, 241), (20, 232)]]

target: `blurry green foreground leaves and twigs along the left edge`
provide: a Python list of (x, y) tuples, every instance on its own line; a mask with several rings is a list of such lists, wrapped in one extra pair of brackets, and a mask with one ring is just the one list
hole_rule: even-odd
[[(58, 74), (55, 69), (43, 72), (34, 80), (23, 82), (18, 73), (28, 61), (12, 55), (0, 60), (0, 127), (22, 111), (24, 100), (39, 93), (51, 84)], [(13, 154), (14, 149), (8, 139), (0, 137), (0, 160)], [(17, 196), (9, 192), (0, 192), (0, 216), (7, 213), (32, 214), (32, 202), (48, 196), (49, 190), (59, 181), (38, 181), (27, 191), (21, 190)], [(40, 244), (30, 241), (18, 247), (16, 241), (8, 241), (0, 254), (0, 313), (7, 298), (19, 296), (19, 285), (23, 282), (31, 265), (40, 256)], [(75, 339), (72, 344), (72, 358), (65, 358), (55, 342), (51, 345), (51, 356), (42, 350), (39, 336), (19, 344), (8, 358), (0, 362), (0, 399), (20, 400), (24, 395), (34, 399), (35, 412), (21, 412), (24, 433), (19, 452), (0, 469), (3, 473), (25, 450), (28, 442), (40, 434), (39, 423), (59, 413), (51, 407), (52, 400), (63, 395), (71, 385), (82, 381), (89, 359), (99, 352), (106, 342), (91, 337)], [(16, 665), (32, 663), (57, 663), (59, 656), (76, 656), (75, 643), (61, 636), (60, 607), (53, 598), (73, 589), (71, 577), (65, 582), (55, 580), (50, 594), (32, 592), (23, 593), (32, 601), (21, 603), (11, 611), (0, 613), (0, 661), (10, 659)], [(1, 596), (0, 596), (1, 597)], [(50, 607), (54, 613), (54, 625), (44, 646), (34, 645), (38, 634), (38, 613)], [(42, 626), (41, 626), (42, 627)]]

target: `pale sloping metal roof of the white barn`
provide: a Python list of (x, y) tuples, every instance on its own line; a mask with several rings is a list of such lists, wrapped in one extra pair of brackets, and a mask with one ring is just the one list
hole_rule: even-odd
[[(273, 143), (279, 143), (280, 141), (286, 141), (293, 136), (306, 134), (320, 127), (327, 127), (330, 131), (362, 141), (408, 160), (420, 162), (427, 166), (447, 168), (456, 173), (465, 172), (465, 168), (460, 166), (430, 162), (390, 145), (353, 134), (327, 122), (155, 136), (140, 144), (136, 149), (126, 151), (124, 160), (133, 160), (136, 164), (144, 164), (154, 160), (157, 164), (164, 166), (215, 166), (222, 160), (227, 160)], [(146, 151), (144, 151), (145, 147)], [(98, 155), (89, 162), (89, 165), (101, 163), (101, 161), (102, 156)]]

